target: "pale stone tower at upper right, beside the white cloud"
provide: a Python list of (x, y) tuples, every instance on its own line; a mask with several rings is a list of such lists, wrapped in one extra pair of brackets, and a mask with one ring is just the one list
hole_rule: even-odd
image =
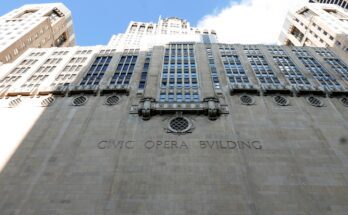
[(307, 4), (289, 12), (279, 41), (290, 46), (333, 47), (348, 56), (348, 11), (337, 5)]

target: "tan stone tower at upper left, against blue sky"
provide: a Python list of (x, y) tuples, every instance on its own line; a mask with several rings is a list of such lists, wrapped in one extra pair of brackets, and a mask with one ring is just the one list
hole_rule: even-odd
[(24, 5), (0, 17), (0, 64), (29, 48), (73, 45), (71, 12), (61, 3)]

